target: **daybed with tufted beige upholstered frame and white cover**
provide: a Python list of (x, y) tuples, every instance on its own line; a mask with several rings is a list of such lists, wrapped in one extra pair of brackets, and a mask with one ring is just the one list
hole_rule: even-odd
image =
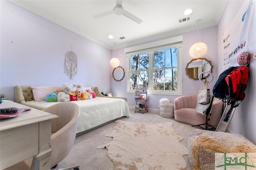
[[(130, 112), (127, 104), (127, 98), (110, 98), (100, 94), (97, 87), (92, 90), (97, 97), (90, 100), (72, 101), (80, 106), (81, 112), (78, 119), (78, 129), (76, 136), (91, 131), (97, 127), (120, 119), (129, 117)], [(30, 86), (15, 86), (14, 102), (33, 107), (44, 109), (59, 102), (35, 102)], [(72, 114), (72, 113), (71, 113)]]

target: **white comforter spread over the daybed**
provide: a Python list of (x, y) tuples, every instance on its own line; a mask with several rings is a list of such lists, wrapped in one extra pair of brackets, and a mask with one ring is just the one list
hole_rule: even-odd
[[(128, 104), (123, 99), (96, 97), (89, 100), (73, 102), (78, 104), (81, 109), (76, 133), (87, 131), (88, 129), (123, 116), (130, 116)], [(46, 108), (59, 102), (33, 101), (28, 103)]]

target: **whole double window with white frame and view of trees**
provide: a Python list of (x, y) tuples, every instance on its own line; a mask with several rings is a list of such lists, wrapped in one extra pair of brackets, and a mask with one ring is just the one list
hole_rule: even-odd
[(181, 94), (181, 42), (127, 53), (127, 91)]

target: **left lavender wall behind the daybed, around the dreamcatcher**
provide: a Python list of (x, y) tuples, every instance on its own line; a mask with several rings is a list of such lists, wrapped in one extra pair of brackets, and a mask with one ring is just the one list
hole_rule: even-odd
[[(62, 86), (82, 83), (110, 91), (111, 51), (72, 31), (1, 1), (0, 93), (14, 99), (15, 85)], [(66, 51), (76, 53), (78, 73), (64, 72)]]

